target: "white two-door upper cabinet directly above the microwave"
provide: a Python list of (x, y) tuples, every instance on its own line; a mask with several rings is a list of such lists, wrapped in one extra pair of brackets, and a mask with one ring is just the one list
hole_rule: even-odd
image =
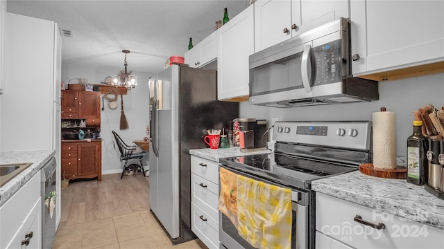
[(349, 0), (256, 1), (255, 52), (339, 17), (350, 17), (349, 3)]

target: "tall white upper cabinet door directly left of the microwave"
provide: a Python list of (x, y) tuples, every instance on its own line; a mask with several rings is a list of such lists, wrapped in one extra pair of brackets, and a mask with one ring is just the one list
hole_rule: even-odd
[(219, 28), (218, 99), (248, 96), (248, 57), (254, 53), (253, 6)]

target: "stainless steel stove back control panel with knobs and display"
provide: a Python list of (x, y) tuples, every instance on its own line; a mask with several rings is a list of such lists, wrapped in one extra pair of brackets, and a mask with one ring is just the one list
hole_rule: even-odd
[(371, 121), (277, 121), (273, 140), (369, 150), (371, 130)]

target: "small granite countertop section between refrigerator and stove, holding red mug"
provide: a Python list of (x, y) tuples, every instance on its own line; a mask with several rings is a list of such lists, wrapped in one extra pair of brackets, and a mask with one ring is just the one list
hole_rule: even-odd
[(189, 154), (194, 156), (199, 156), (201, 158), (205, 158), (208, 160), (212, 160), (216, 163), (219, 163), (220, 158), (227, 158), (233, 156), (248, 156), (255, 154), (265, 154), (271, 153), (271, 151), (267, 151), (266, 149), (258, 150), (258, 151), (241, 151), (239, 147), (230, 147), (224, 149), (190, 149)]

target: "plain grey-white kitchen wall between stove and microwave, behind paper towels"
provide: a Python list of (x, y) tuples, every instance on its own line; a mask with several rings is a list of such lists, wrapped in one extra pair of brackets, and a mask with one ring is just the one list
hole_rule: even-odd
[(374, 102), (286, 109), (259, 107), (243, 102), (239, 107), (239, 115), (242, 118), (266, 119), (270, 127), (272, 118), (282, 121), (372, 120), (373, 112), (386, 107), (387, 111), (395, 111), (397, 154), (406, 156), (407, 137), (413, 132), (413, 111), (425, 104), (433, 104), (438, 109), (444, 107), (444, 73), (379, 82), (379, 100)]

